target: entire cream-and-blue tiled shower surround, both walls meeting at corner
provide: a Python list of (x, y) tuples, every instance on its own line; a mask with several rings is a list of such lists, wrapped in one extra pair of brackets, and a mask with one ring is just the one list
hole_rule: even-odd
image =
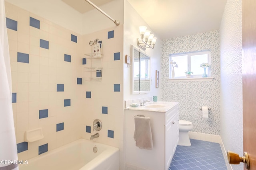
[[(79, 35), (6, 2), (16, 140), (20, 160), (80, 137), (123, 153), (123, 27)], [(90, 40), (102, 42), (101, 59), (85, 59)], [(91, 63), (93, 63), (91, 65)], [(85, 67), (101, 66), (102, 80)], [(93, 131), (94, 119), (102, 130)], [(42, 127), (44, 139), (25, 142), (26, 130)], [(122, 169), (122, 168), (121, 168)]]

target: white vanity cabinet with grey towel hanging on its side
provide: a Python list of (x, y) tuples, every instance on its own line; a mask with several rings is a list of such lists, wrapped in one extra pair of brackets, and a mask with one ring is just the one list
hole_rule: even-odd
[[(179, 141), (179, 105), (172, 103), (169, 109), (125, 109), (125, 162), (130, 170), (168, 170)], [(153, 149), (135, 146), (134, 116), (150, 117)]]

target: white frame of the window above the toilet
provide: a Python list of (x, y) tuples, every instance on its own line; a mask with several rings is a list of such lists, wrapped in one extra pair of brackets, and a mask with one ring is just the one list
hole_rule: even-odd
[[(184, 73), (184, 76), (172, 78), (172, 65), (170, 64), (172, 57), (179, 57), (179, 56), (187, 55), (188, 56), (188, 66), (187, 67), (188, 67), (188, 71), (190, 71), (191, 70), (191, 56), (202, 55), (202, 54), (208, 55), (208, 64), (211, 64), (211, 51), (208, 51), (208, 50), (207, 51), (189, 52), (189, 53), (170, 54), (169, 55), (169, 78), (170, 79), (186, 78), (185, 73)], [(211, 76), (211, 68), (208, 67), (207, 71), (208, 71), (207, 75), (208, 75), (208, 77), (210, 77)], [(191, 78), (202, 78), (202, 75), (203, 75), (203, 70), (202, 70), (202, 74), (197, 74), (197, 75), (191, 74)]]

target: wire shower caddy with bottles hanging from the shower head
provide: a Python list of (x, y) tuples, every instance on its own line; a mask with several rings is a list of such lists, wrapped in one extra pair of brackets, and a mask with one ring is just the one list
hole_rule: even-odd
[[(98, 42), (99, 40), (96, 39), (94, 41), (90, 41), (90, 45), (93, 45), (95, 43), (100, 43)], [(100, 53), (89, 53), (85, 54), (86, 60), (89, 59), (90, 61), (90, 66), (89, 67), (84, 67), (85, 72), (89, 72), (88, 77), (86, 77), (86, 81), (91, 81), (91, 80), (102, 80), (102, 43), (100, 43)]]

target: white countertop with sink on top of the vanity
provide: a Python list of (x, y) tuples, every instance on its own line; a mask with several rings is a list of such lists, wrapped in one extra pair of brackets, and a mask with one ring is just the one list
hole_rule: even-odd
[(166, 112), (170, 110), (172, 107), (176, 106), (177, 104), (178, 102), (147, 102), (145, 106), (139, 106), (139, 107), (126, 106), (126, 109)]

